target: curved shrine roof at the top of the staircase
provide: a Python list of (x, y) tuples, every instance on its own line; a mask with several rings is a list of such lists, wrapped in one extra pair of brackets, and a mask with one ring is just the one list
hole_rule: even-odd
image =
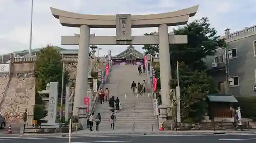
[(126, 56), (133, 55), (136, 58), (143, 58), (143, 54), (136, 50), (134, 46), (130, 45), (127, 47), (127, 49), (117, 55), (114, 56), (114, 58), (125, 58)]

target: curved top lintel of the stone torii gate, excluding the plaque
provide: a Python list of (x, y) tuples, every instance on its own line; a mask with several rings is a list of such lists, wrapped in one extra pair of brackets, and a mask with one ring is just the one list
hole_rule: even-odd
[[(189, 17), (196, 14), (199, 5), (160, 14), (130, 15), (132, 28), (158, 27), (161, 24), (168, 26), (184, 25)], [(117, 15), (89, 15), (63, 11), (50, 7), (53, 16), (59, 19), (61, 25), (67, 27), (80, 27), (88, 25), (91, 28), (116, 28)], [(127, 15), (127, 14), (124, 14)], [(129, 14), (128, 14), (129, 15)], [(118, 15), (119, 17), (122, 16)]]

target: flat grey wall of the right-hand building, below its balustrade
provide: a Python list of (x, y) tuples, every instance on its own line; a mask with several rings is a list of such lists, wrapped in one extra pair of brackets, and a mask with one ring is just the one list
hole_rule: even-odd
[(253, 90), (255, 85), (256, 58), (253, 41), (256, 35), (242, 38), (228, 43), (228, 48), (237, 48), (237, 58), (228, 60), (229, 76), (238, 76), (239, 85), (230, 87), (230, 92), (235, 96), (256, 96)]

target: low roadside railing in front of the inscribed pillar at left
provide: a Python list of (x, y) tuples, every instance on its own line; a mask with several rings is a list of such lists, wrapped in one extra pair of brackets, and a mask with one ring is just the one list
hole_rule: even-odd
[(69, 133), (69, 126), (66, 125), (27, 125), (24, 124), (22, 134), (42, 134), (42, 133)]

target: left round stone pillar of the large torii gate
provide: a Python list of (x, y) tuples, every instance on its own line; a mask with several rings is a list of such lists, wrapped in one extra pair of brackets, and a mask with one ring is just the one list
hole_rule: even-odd
[(87, 78), (88, 78), (88, 61), (89, 61), (89, 38), (90, 27), (88, 25), (81, 25), (79, 37), (79, 54), (76, 72), (76, 87), (74, 98), (73, 115), (78, 116), (78, 108), (83, 106), (83, 99), (87, 97)]

